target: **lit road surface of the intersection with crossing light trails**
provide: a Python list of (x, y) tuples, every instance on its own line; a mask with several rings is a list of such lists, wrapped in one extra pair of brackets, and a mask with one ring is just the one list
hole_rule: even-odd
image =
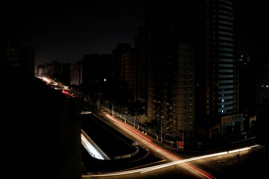
[[(118, 128), (120, 131), (130, 136), (131, 138), (134, 138), (138, 143), (142, 144), (150, 151), (154, 151), (154, 155), (158, 156), (160, 159), (165, 159), (166, 164), (158, 164), (146, 168), (139, 167), (141, 169), (127, 170), (120, 173), (110, 172), (105, 174), (104, 172), (102, 172), (103, 175), (100, 174), (98, 178), (106, 176), (110, 176), (113, 178), (132, 178), (132, 173), (135, 173), (135, 176), (139, 176), (141, 178), (154, 178), (156, 176), (161, 178), (161, 176), (165, 175), (166, 173), (169, 173), (169, 176), (185, 176), (188, 178), (219, 178), (229, 166), (229, 164), (226, 164), (226, 166), (224, 166), (225, 163), (227, 163), (227, 161), (230, 161), (229, 163), (234, 163), (234, 153), (239, 152), (239, 150), (230, 151), (229, 154), (227, 154), (227, 152), (213, 152), (212, 154), (199, 157), (197, 157), (198, 155), (195, 154), (179, 154), (178, 152), (170, 150), (168, 149), (168, 147), (161, 145), (159, 142), (152, 140), (147, 135), (144, 135), (144, 133), (141, 133), (137, 129), (134, 129), (130, 125), (130, 123), (125, 124), (124, 122), (119, 121), (108, 114), (105, 114), (105, 116), (106, 117), (103, 117), (105, 121), (109, 122), (111, 125)], [(248, 147), (244, 148), (243, 150), (241, 149), (240, 156), (246, 156), (249, 152), (248, 149)], [(253, 150), (258, 151), (255, 146), (252, 146), (250, 150), (251, 152), (253, 152)], [(184, 160), (180, 161), (181, 159)], [(182, 164), (177, 164), (181, 162)], [(216, 165), (216, 162), (221, 164)], [(170, 173), (171, 170), (175, 170), (173, 174)], [(212, 173), (215, 173), (215, 175), (212, 175)], [(98, 175), (93, 175), (91, 177), (97, 176)]]

